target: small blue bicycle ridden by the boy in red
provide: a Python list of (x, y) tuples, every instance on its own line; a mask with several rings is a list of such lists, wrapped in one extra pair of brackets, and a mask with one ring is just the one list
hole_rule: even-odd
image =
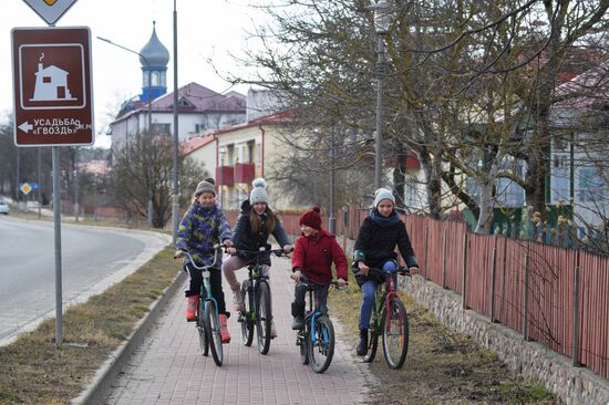
[[(300, 346), (300, 361), (309, 364), (316, 373), (323, 373), (330, 366), (334, 355), (334, 326), (328, 314), (319, 311), (313, 300), (313, 292), (318, 284), (300, 276), (300, 282), (307, 284), (309, 310), (304, 313), (304, 328), (296, 336), (296, 345)], [(332, 280), (330, 285), (339, 290), (338, 281)]]

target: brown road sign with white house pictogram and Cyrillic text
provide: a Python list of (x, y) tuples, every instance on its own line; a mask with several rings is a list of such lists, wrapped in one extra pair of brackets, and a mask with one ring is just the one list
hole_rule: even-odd
[(92, 145), (91, 31), (14, 28), (14, 144)]

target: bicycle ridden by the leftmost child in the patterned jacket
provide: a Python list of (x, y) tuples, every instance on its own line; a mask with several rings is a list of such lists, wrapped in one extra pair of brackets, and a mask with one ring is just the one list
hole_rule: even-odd
[[(211, 356), (214, 362), (218, 365), (223, 365), (224, 352), (223, 342), (220, 336), (220, 319), (218, 313), (218, 303), (211, 295), (211, 284), (209, 282), (209, 270), (216, 267), (221, 259), (221, 246), (214, 246), (214, 262), (209, 266), (197, 266), (196, 261), (187, 250), (180, 249), (190, 259), (193, 267), (203, 271), (203, 283), (200, 285), (199, 301), (197, 305), (197, 315), (195, 326), (198, 330), (199, 347), (204, 356), (208, 356), (209, 347), (211, 347)], [(177, 256), (174, 256), (176, 259)]]

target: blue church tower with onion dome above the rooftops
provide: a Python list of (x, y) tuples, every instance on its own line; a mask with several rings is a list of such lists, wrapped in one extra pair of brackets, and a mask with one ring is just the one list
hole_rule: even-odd
[(145, 103), (167, 93), (169, 51), (156, 37), (155, 24), (156, 22), (153, 21), (151, 39), (140, 51), (140, 62), (142, 63), (142, 94), (140, 101)]

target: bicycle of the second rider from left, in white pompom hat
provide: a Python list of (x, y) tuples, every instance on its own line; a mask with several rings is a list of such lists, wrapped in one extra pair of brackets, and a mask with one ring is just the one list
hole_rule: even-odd
[(273, 253), (277, 257), (286, 256), (283, 249), (260, 248), (260, 250), (237, 249), (237, 253), (256, 255), (256, 260), (247, 266), (248, 279), (241, 284), (241, 300), (244, 311), (239, 311), (238, 322), (241, 324), (241, 341), (250, 346), (254, 341), (254, 325), (258, 351), (267, 354), (270, 349), (270, 329), (272, 322), (272, 309), (270, 298), (270, 284), (268, 277), (262, 274), (260, 259)]

